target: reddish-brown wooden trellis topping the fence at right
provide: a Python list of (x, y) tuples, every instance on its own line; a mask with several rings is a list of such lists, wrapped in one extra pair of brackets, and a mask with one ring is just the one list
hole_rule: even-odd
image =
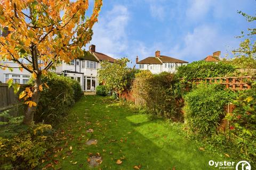
[(246, 90), (251, 89), (251, 83), (256, 80), (256, 77), (218, 77), (218, 78), (205, 78), (194, 79), (190, 82), (195, 84), (207, 83), (207, 84), (225, 84), (227, 89), (232, 90)]

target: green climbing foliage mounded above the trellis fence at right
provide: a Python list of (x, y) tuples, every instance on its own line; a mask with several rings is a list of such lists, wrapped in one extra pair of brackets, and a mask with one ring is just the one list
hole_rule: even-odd
[(177, 76), (185, 81), (195, 78), (225, 77), (235, 72), (235, 67), (225, 62), (197, 61), (178, 67)]

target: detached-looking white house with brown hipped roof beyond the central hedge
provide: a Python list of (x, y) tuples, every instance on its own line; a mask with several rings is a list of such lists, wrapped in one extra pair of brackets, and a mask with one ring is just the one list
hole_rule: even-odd
[(186, 65), (188, 62), (179, 60), (177, 58), (160, 55), (160, 51), (157, 50), (154, 57), (147, 57), (141, 61), (139, 61), (137, 56), (136, 64), (139, 65), (140, 70), (149, 70), (153, 74), (158, 74), (164, 71), (174, 73), (177, 67)]

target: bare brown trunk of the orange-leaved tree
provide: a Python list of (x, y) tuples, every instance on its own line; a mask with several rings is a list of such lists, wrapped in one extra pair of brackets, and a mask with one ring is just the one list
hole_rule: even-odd
[(27, 107), (25, 118), (23, 120), (24, 124), (31, 125), (34, 123), (34, 113), (36, 112), (36, 107), (40, 97), (40, 91), (39, 91), (40, 84), (41, 84), (41, 75), (37, 75), (37, 78), (35, 79), (35, 85), (34, 85), (34, 94), (31, 98), (31, 101), (34, 101), (36, 103), (36, 106)]

